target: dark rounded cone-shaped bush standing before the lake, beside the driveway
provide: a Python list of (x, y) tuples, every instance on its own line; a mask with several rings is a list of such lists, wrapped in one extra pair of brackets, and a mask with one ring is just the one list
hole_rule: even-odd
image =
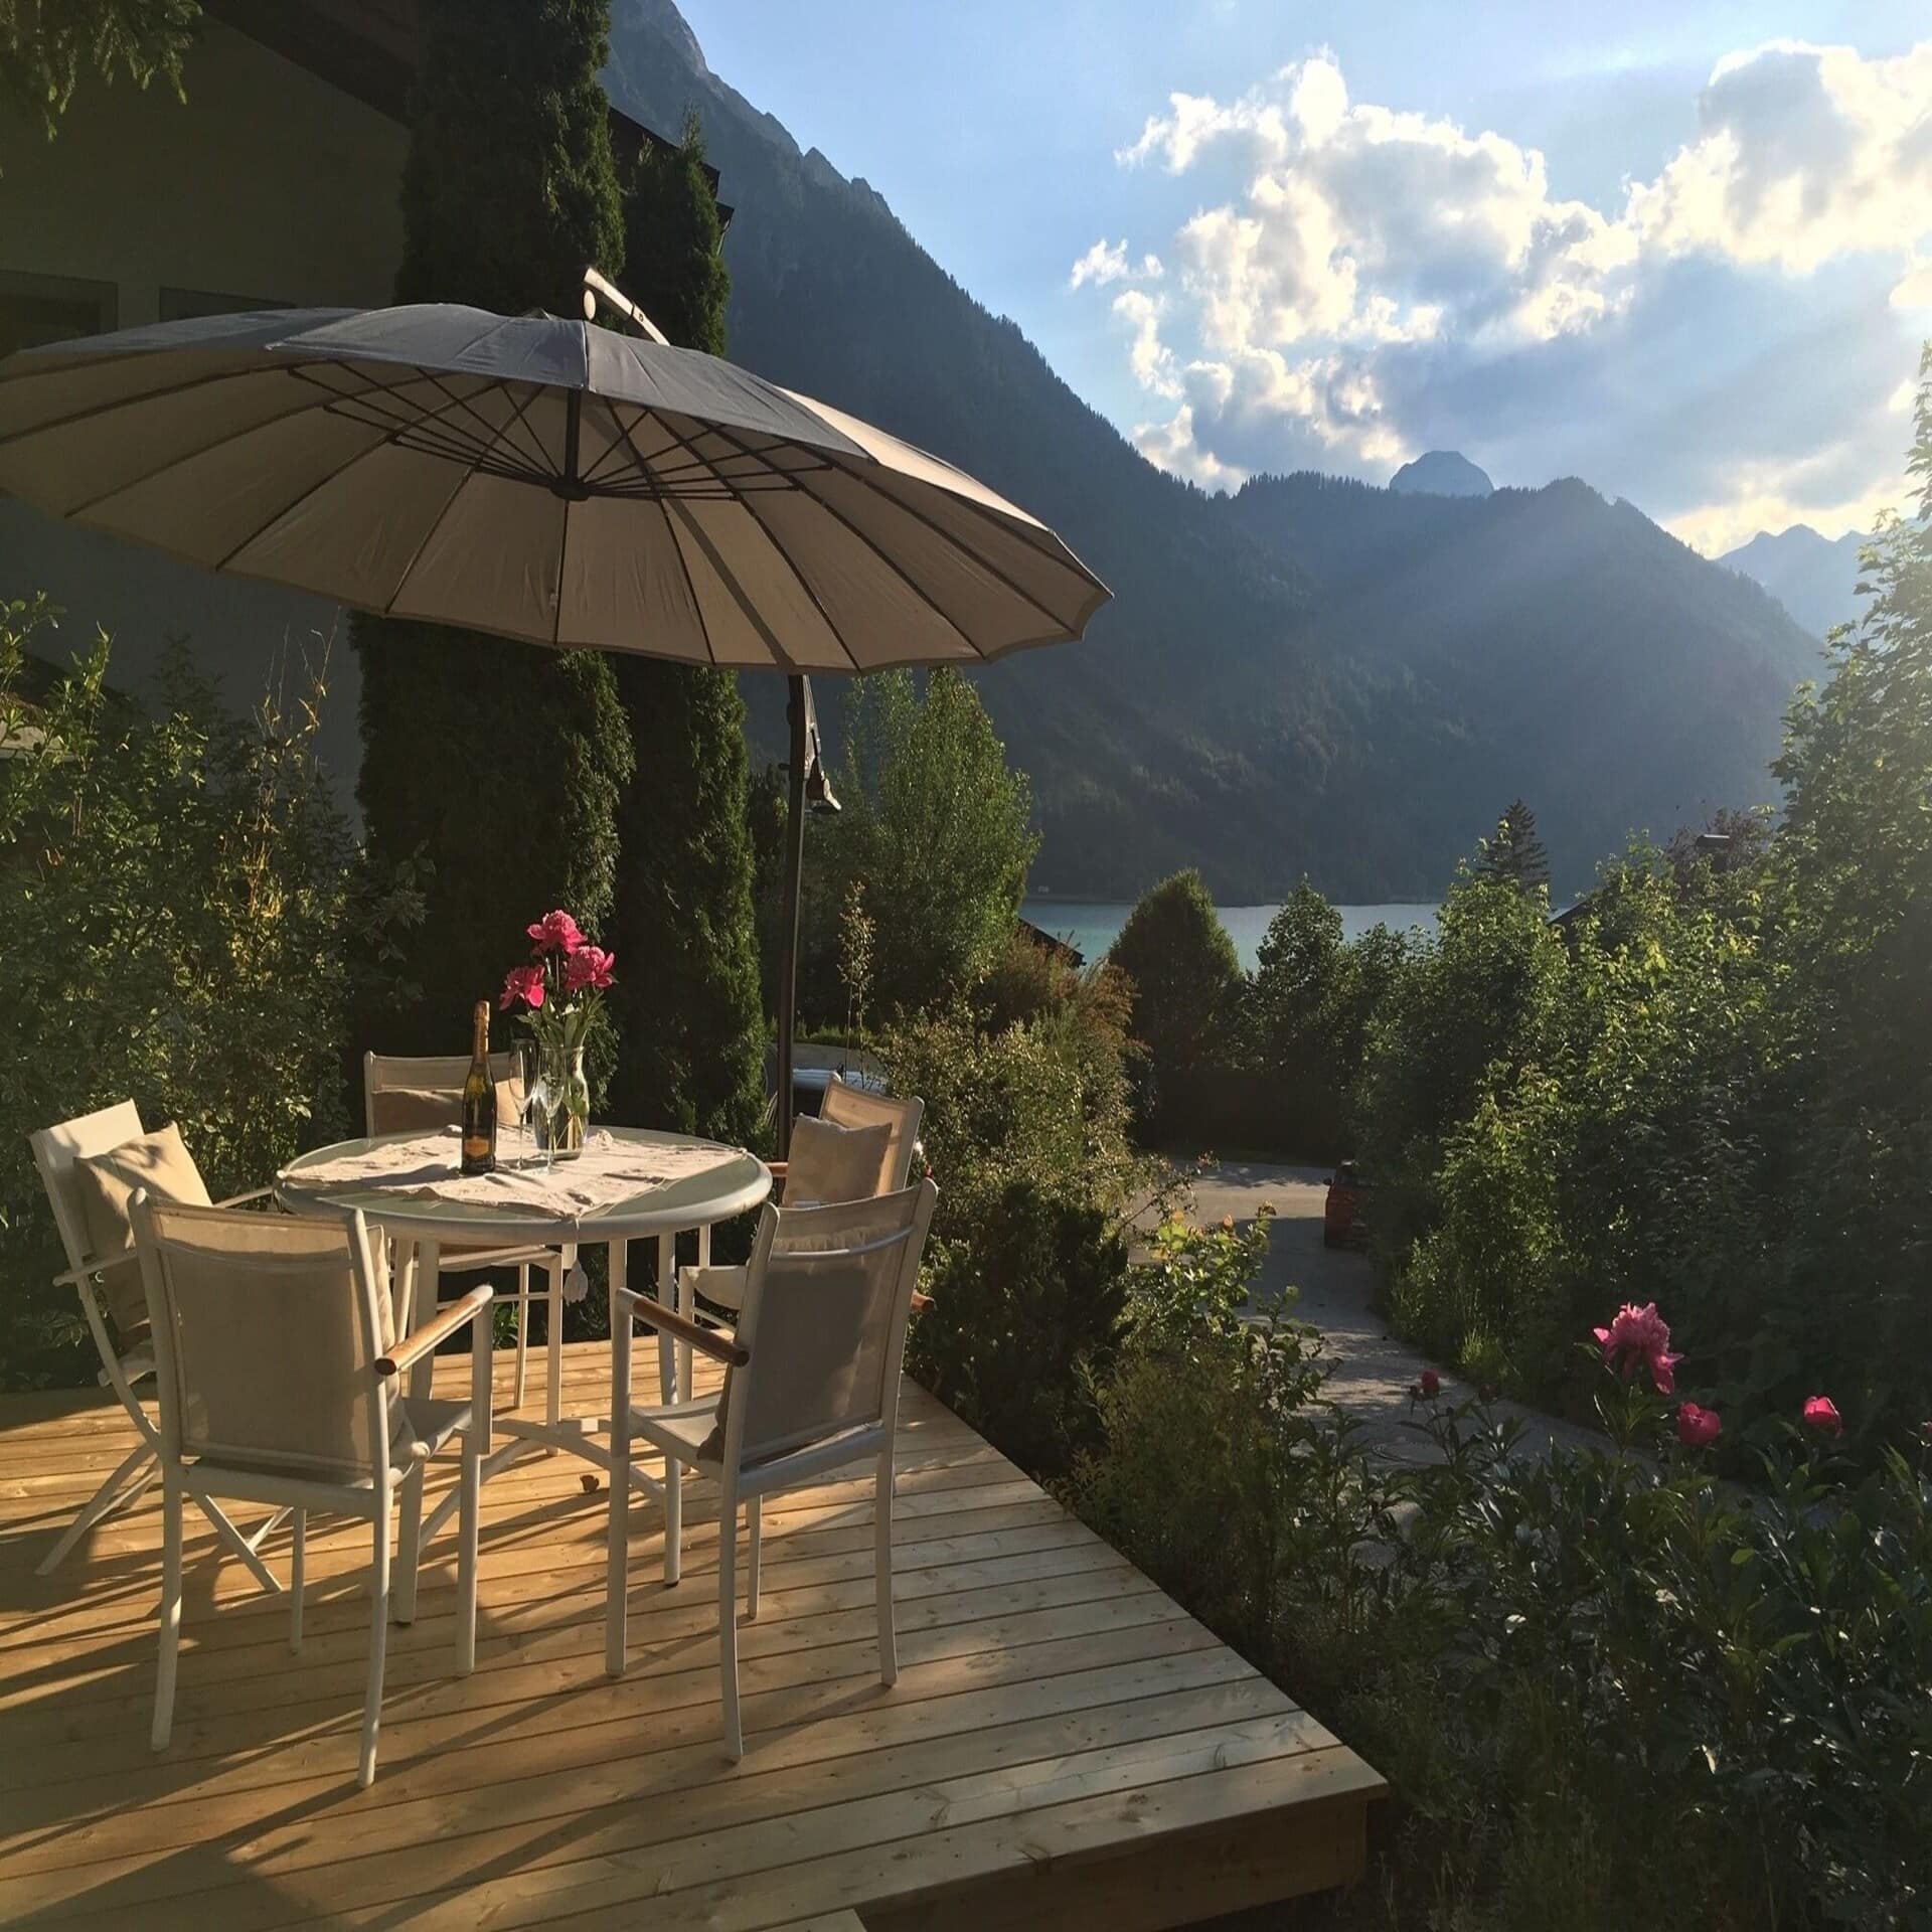
[(1134, 987), (1134, 1037), (1155, 1080), (1231, 1059), (1246, 976), (1198, 871), (1150, 887), (1107, 960)]

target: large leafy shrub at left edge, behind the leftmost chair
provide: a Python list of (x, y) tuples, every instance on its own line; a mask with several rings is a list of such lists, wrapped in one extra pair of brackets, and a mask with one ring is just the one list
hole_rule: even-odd
[[(23, 697), (44, 599), (0, 607), (0, 1378), (91, 1379), (27, 1134), (133, 1099), (176, 1121), (216, 1198), (348, 1132), (352, 981), (394, 970), (408, 881), (361, 873), (315, 763), (321, 690), (230, 717), (185, 651), (149, 721), (108, 641)], [(354, 935), (354, 939), (352, 939)]]

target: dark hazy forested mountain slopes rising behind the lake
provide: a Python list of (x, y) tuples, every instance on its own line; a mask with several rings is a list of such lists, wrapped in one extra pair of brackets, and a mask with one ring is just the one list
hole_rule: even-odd
[[(1665, 838), (1774, 796), (1816, 645), (1756, 585), (1580, 483), (1208, 497), (1151, 468), (871, 185), (711, 73), (670, 0), (616, 0), (611, 44), (620, 106), (703, 122), (736, 209), (732, 357), (964, 466), (1111, 583), (1084, 643), (980, 674), (1034, 781), (1036, 889), (1124, 896), (1198, 864), (1223, 902), (1304, 873), (1352, 900), (1434, 896), (1519, 794), (1569, 889), (1633, 829)], [(1453, 454), (1422, 460), (1445, 464), (1461, 475)], [(771, 750), (775, 682), (746, 680)]]

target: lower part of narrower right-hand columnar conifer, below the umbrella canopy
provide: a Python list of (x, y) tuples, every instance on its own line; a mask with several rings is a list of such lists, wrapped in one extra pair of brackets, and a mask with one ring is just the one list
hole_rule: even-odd
[(647, 657), (616, 684), (638, 773), (618, 811), (612, 1105), (744, 1144), (765, 1109), (744, 699), (728, 670)]

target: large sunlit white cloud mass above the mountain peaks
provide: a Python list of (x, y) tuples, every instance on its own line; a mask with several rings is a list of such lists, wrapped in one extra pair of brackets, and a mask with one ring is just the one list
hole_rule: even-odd
[[(1128, 288), (1113, 299), (1136, 381), (1175, 404), (1134, 440), (1208, 487), (1296, 462), (1385, 475), (1437, 440), (1445, 417), (1480, 454), (1484, 425), (1470, 439), (1468, 417), (1484, 406), (1509, 419), (1495, 437), (1511, 446), (1534, 446), (1524, 417), (1536, 408), (1557, 450), (1580, 440), (1559, 412), (1623, 410), (1633, 448), (1638, 423), (1658, 448), (1689, 444), (1663, 390), (1706, 379), (1708, 423), (1712, 404), (1748, 381), (1735, 338), (1716, 323), (1698, 332), (1710, 272), (1747, 296), (1762, 282), (1760, 315), (1789, 305), (1783, 284), (1814, 290), (1824, 355), (1826, 290), (1837, 292), (1839, 330), (1853, 299), (1843, 278), (1818, 276), (1828, 263), (1876, 263), (1891, 336), (1932, 309), (1932, 41), (1893, 60), (1781, 41), (1725, 56), (1698, 100), (1696, 137), (1615, 209), (1559, 195), (1544, 155), (1503, 133), (1350, 99), (1325, 50), (1233, 100), (1171, 95), (1117, 158), (1209, 184), (1163, 251), (1159, 296)], [(1115, 280), (1136, 280), (1124, 238), (1074, 267), (1076, 286)], [(1870, 301), (1868, 280), (1861, 270), (1845, 282), (1857, 301)], [(1731, 315), (1745, 301), (1716, 307)], [(1638, 317), (1648, 359), (1619, 359)], [(1866, 361), (1880, 361), (1891, 350), (1874, 348), (1864, 321)], [(1895, 371), (1845, 412), (1864, 433)], [(1859, 377), (1872, 381), (1864, 363)], [(1733, 415), (1748, 417), (1748, 404), (1733, 402)], [(1760, 454), (1772, 468), (1739, 468), (1719, 502), (1706, 473), (1718, 464), (1692, 450), (1683, 495), (1658, 508), (1698, 541), (1719, 531), (1725, 504), (1745, 516), (1745, 504), (1830, 498), (1812, 520), (1832, 506), (1862, 516), (1899, 452), (1841, 435), (1830, 485), (1822, 473), (1806, 483), (1789, 450)], [(1642, 452), (1633, 468), (1662, 473), (1644, 469)]]

